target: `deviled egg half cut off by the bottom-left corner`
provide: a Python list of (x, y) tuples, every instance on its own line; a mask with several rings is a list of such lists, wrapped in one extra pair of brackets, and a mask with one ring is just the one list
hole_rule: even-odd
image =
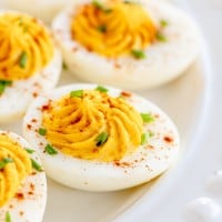
[(46, 202), (39, 157), (18, 134), (0, 131), (0, 221), (41, 222)]

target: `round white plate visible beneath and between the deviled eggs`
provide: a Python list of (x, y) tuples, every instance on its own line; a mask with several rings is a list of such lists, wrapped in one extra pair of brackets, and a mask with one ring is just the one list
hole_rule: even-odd
[[(202, 54), (204, 54), (204, 50)], [(49, 179), (48, 204), (43, 222), (105, 222), (114, 219), (117, 221), (135, 221), (134, 219), (140, 216), (141, 221), (153, 222), (159, 216), (160, 220), (157, 221), (170, 222), (170, 218), (164, 220), (167, 218), (157, 214), (157, 212), (162, 212), (161, 210), (154, 211), (154, 214), (151, 209), (152, 205), (158, 208), (164, 193), (172, 188), (172, 182), (176, 182), (176, 169), (184, 169), (184, 163), (189, 162), (190, 157), (194, 154), (192, 151), (195, 150), (194, 144), (198, 144), (200, 122), (204, 117), (208, 101), (208, 72), (206, 60), (201, 57), (184, 75), (174, 82), (157, 90), (139, 92), (162, 108), (178, 125), (182, 144), (181, 160), (176, 168), (169, 170), (152, 183), (110, 193), (82, 192), (62, 186)], [(78, 80), (67, 72), (63, 73), (60, 85), (75, 81)], [(21, 122), (0, 124), (0, 129), (12, 130), (21, 134)], [(180, 193), (184, 195), (181, 191)], [(137, 204), (134, 204), (135, 202)], [(124, 212), (127, 209), (128, 211)], [(150, 212), (149, 215), (147, 214), (147, 220), (142, 219), (145, 210)], [(153, 220), (150, 220), (150, 216)]]

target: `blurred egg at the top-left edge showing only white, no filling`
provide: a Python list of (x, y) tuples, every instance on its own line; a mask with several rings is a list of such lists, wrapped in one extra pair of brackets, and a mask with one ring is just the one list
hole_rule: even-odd
[(10, 9), (23, 11), (50, 22), (63, 7), (71, 2), (73, 0), (7, 0), (6, 4)]

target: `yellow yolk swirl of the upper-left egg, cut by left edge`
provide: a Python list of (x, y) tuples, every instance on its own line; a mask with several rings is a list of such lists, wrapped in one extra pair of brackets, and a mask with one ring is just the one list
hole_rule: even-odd
[(37, 19), (7, 13), (0, 16), (0, 80), (21, 80), (49, 63), (53, 44)]

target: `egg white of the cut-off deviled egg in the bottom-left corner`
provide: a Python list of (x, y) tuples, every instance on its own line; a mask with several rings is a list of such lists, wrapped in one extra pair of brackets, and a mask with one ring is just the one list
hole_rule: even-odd
[[(7, 133), (24, 149), (31, 149), (30, 144), (18, 134), (8, 131), (0, 131), (0, 133)], [(36, 152), (30, 154), (30, 158), (41, 165), (41, 160)], [(30, 189), (31, 184), (34, 185), (33, 190)], [(28, 175), (18, 193), (22, 193), (24, 198), (13, 198), (3, 208), (0, 208), (0, 221), (4, 222), (6, 213), (9, 212), (12, 222), (41, 222), (47, 203), (46, 173), (42, 171)]]

